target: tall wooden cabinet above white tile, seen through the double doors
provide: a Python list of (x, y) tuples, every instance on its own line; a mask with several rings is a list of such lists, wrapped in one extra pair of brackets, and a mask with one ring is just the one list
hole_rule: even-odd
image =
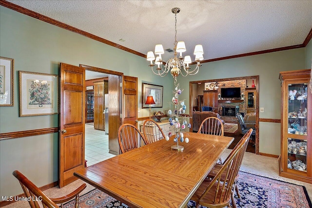
[(94, 82), (94, 128), (105, 130), (104, 95), (108, 93), (108, 81)]

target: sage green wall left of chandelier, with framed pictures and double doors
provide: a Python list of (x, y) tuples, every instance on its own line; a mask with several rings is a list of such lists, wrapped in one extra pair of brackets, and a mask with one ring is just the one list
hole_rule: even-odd
[[(164, 86), (163, 103), (172, 93), (172, 77), (159, 79), (149, 62), (137, 55), (86, 38), (79, 34), (0, 7), (0, 56), (14, 58), (14, 106), (0, 107), (0, 133), (59, 127), (59, 115), (19, 117), (18, 71), (59, 74), (59, 63), (85, 64), (126, 76), (138, 77), (138, 107), (141, 108), (141, 82)], [(168, 90), (170, 89), (170, 90)], [(153, 108), (152, 112), (163, 111)], [(148, 116), (141, 109), (139, 117)], [(0, 196), (22, 193), (12, 175), (20, 170), (37, 186), (58, 180), (59, 133), (0, 141)]]

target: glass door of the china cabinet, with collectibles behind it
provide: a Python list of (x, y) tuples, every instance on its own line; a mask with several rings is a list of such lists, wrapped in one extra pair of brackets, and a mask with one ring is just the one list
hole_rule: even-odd
[[(307, 171), (308, 84), (288, 84), (288, 169)], [(311, 95), (310, 95), (311, 96)], [(311, 121), (310, 121), (311, 122)]]

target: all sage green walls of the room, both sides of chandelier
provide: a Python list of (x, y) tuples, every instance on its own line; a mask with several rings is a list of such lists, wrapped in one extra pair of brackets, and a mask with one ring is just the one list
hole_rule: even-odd
[[(59, 115), (19, 117), (18, 71), (59, 74), (59, 63), (85, 64), (138, 77), (138, 107), (141, 108), (141, 82), (164, 86), (163, 109), (172, 98), (170, 75), (159, 78), (143, 57), (86, 38), (57, 26), (33, 19), (0, 6), (0, 56), (14, 58), (14, 106), (0, 107), (0, 133), (18, 132), (59, 126)], [(233, 58), (202, 64), (195, 76), (178, 77), (184, 89), (180, 99), (189, 106), (189, 81), (237, 76), (260, 76), (260, 118), (280, 118), (280, 71), (309, 67), (312, 43), (307, 48)], [(121, 59), (121, 60), (120, 60)], [(307, 67), (308, 66), (308, 67)], [(139, 117), (148, 116), (141, 109)], [(280, 124), (260, 122), (260, 152), (279, 154)], [(20, 170), (40, 186), (58, 180), (59, 134), (45, 134), (0, 141), (0, 196), (22, 193), (12, 175)]]

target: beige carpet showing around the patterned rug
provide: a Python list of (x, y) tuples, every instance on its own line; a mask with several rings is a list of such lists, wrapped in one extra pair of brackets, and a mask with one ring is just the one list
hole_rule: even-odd
[[(229, 149), (225, 151), (224, 155), (222, 155), (223, 161), (226, 159), (227, 155), (230, 152), (231, 150)], [(278, 175), (277, 158), (266, 157), (266, 156), (261, 156), (261, 155), (256, 155), (254, 153), (246, 152), (240, 170), (245, 171), (245, 172), (250, 172), (256, 175), (261, 175), (261, 176), (265, 176), (268, 178), (276, 179), (276, 180), (286, 181), (289, 183), (305, 186), (310, 199), (312, 199), (312, 184), (284, 178)], [(12, 175), (12, 177), (14, 176)], [(82, 183), (84, 182), (81, 180), (77, 180), (62, 189), (59, 189), (58, 187), (54, 187), (54, 188), (44, 191), (44, 193), (50, 197), (63, 196), (63, 195), (66, 195), (67, 193), (70, 193), (74, 189), (78, 188), (78, 186)], [(92, 189), (94, 188), (91, 185), (87, 184), (87, 188), (82, 192), (82, 194), (87, 193)], [(21, 189), (20, 191), (22, 192)], [(15, 203), (5, 206), (4, 208), (25, 208), (25, 207), (29, 207), (28, 202), (15, 202)]]

